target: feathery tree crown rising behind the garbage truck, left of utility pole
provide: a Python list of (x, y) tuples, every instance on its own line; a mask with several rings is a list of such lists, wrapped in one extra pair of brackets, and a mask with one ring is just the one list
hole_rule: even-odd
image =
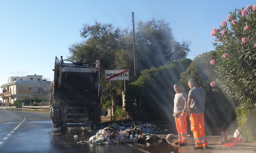
[(69, 47), (69, 59), (95, 61), (96, 58), (100, 58), (103, 69), (110, 68), (110, 61), (114, 59), (114, 51), (120, 44), (123, 31), (113, 24), (95, 21), (93, 25), (84, 24), (80, 35), (84, 41)]

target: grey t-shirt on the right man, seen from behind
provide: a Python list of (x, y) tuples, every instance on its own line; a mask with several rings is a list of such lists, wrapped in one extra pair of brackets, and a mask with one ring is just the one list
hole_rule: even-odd
[(188, 96), (192, 96), (190, 107), (191, 113), (204, 113), (205, 112), (205, 90), (199, 87), (191, 89)]

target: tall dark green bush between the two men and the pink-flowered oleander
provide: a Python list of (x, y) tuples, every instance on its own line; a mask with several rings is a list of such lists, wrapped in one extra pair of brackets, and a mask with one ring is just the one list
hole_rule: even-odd
[(198, 55), (189, 65), (185, 72), (180, 75), (180, 84), (188, 94), (188, 80), (195, 79), (198, 87), (204, 88), (205, 97), (205, 120), (211, 127), (220, 127), (224, 121), (227, 125), (236, 118), (234, 110), (236, 103), (217, 87), (210, 83), (216, 78), (214, 66), (210, 60), (216, 57), (216, 52), (206, 52)]

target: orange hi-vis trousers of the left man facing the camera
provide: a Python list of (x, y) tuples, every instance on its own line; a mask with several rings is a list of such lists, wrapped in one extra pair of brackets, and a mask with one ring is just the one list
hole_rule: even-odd
[(183, 113), (179, 117), (175, 118), (176, 128), (179, 135), (178, 142), (188, 143), (187, 141), (187, 113)]

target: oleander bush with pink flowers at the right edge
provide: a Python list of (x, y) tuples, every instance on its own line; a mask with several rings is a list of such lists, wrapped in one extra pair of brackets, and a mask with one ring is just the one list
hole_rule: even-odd
[(217, 83), (243, 104), (256, 103), (256, 5), (234, 9), (213, 30)]

